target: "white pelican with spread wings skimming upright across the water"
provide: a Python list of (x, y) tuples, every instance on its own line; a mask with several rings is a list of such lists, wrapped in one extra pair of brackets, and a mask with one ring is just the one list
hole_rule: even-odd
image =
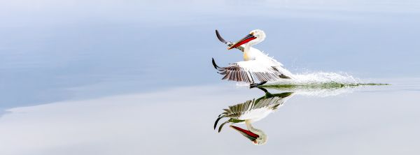
[[(236, 48), (244, 53), (244, 61), (230, 64), (227, 67), (219, 67), (214, 59), (211, 59), (214, 68), (219, 71), (218, 73), (225, 75), (222, 80), (246, 82), (251, 87), (255, 87), (265, 84), (267, 81), (273, 82), (280, 79), (293, 78), (293, 74), (283, 68), (283, 64), (252, 47), (265, 39), (264, 31), (255, 29), (236, 43), (225, 41), (217, 30), (216, 36), (218, 40), (228, 45), (228, 50)], [(255, 78), (260, 81), (259, 84), (255, 84)]]

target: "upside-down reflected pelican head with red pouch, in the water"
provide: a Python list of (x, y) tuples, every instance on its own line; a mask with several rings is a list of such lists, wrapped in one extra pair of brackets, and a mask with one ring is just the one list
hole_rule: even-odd
[(265, 135), (264, 131), (253, 128), (252, 131), (245, 130), (244, 128), (239, 128), (238, 126), (232, 126), (231, 128), (234, 128), (236, 131), (241, 133), (241, 135), (244, 135), (244, 137), (248, 138), (253, 142), (254, 145), (265, 145), (267, 142), (267, 135)]

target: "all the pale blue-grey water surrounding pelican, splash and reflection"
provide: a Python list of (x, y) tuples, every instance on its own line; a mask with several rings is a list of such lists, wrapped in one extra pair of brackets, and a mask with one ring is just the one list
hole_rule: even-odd
[[(418, 154), (419, 6), (416, 1), (0, 2), (0, 150)], [(267, 128), (269, 142), (253, 146), (230, 128), (224, 133), (211, 128), (223, 108), (262, 96), (220, 80), (211, 57), (225, 66), (240, 61), (241, 53), (226, 50), (214, 29), (227, 40), (264, 30), (267, 38), (256, 47), (293, 73), (347, 73), (392, 85), (323, 98), (296, 95), (256, 124)]]

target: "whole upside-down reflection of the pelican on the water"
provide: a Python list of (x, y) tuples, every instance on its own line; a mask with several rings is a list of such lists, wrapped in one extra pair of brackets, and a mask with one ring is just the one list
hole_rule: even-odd
[(239, 103), (237, 105), (229, 106), (228, 109), (224, 109), (223, 112), (219, 117), (216, 119), (214, 123), (214, 128), (218, 124), (218, 121), (224, 117), (228, 117), (228, 121), (225, 121), (221, 126), (218, 128), (218, 132), (221, 132), (223, 126), (227, 123), (231, 124), (246, 124), (245, 130), (243, 128), (239, 128), (237, 126), (230, 127), (234, 128), (236, 131), (244, 135), (246, 138), (251, 140), (255, 145), (264, 145), (267, 142), (267, 135), (258, 129), (253, 128), (251, 123), (255, 121), (259, 121), (267, 117), (271, 112), (274, 112), (279, 108), (279, 106), (283, 105), (283, 103), (291, 97), (293, 93), (286, 92), (281, 94), (270, 94), (266, 89), (259, 88), (265, 91), (265, 96), (262, 96), (255, 100), (249, 100), (245, 103)]

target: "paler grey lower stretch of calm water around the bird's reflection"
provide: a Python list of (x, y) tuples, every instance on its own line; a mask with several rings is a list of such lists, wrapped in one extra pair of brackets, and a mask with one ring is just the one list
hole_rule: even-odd
[(0, 146), (4, 154), (416, 154), (419, 80), (394, 81), (295, 89), (253, 124), (268, 135), (262, 146), (213, 130), (223, 108), (264, 96), (233, 84), (12, 108), (0, 118)]

